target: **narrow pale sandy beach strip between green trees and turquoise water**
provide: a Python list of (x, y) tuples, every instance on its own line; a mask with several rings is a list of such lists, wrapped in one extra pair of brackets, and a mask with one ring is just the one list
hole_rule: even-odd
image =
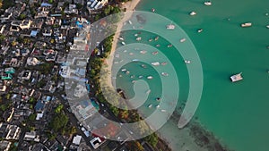
[[(132, 0), (126, 3), (123, 3), (121, 8), (125, 9), (126, 8), (126, 12), (129, 11), (134, 11), (134, 8), (137, 4), (139, 4), (140, 0)], [(111, 48), (111, 53), (109, 55), (109, 57), (106, 59), (106, 62), (108, 63), (108, 81), (107, 84), (109, 87), (113, 88), (112, 85), (112, 80), (111, 80), (111, 70), (112, 70), (112, 65), (113, 65), (113, 60), (114, 60), (114, 54), (115, 51), (117, 49), (117, 42), (118, 42), (118, 38), (120, 36), (120, 30), (122, 29), (124, 22), (128, 21), (131, 17), (131, 13), (128, 13), (128, 15), (125, 15), (124, 18), (117, 22), (117, 31), (115, 33), (115, 36), (113, 38), (113, 44), (112, 44), (112, 48)]]

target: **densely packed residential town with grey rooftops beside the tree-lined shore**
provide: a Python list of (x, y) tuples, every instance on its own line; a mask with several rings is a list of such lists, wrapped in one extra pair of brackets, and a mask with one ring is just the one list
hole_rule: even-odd
[[(112, 3), (117, 7), (117, 2), (108, 0), (2, 2), (0, 150), (153, 151), (158, 148), (158, 138), (127, 141), (133, 131), (122, 132), (118, 125), (104, 124), (97, 115), (123, 122), (100, 96), (90, 91), (96, 88), (91, 76), (85, 77), (91, 69), (87, 65), (89, 56), (100, 58), (107, 48), (102, 43), (97, 48), (88, 45), (91, 22), (102, 16)], [(89, 56), (77, 54), (77, 50), (85, 50)], [(68, 83), (68, 79), (73, 80)], [(90, 94), (90, 99), (87, 96), (85, 100), (75, 101), (85, 94)], [(91, 125), (86, 123), (93, 121), (103, 124), (103, 129), (117, 141), (92, 132)]]

